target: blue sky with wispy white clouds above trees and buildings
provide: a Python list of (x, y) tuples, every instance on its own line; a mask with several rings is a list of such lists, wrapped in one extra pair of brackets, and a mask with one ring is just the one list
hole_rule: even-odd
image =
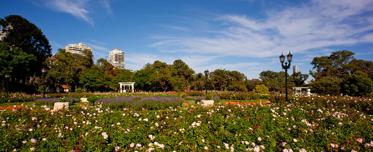
[(372, 0), (13, 0), (1, 3), (0, 18), (8, 15), (37, 25), (53, 54), (82, 42), (98, 60), (117, 48), (133, 70), (181, 59), (196, 73), (236, 70), (253, 79), (280, 72), (289, 50), (291, 66), (305, 74), (314, 57), (334, 51), (373, 60)]

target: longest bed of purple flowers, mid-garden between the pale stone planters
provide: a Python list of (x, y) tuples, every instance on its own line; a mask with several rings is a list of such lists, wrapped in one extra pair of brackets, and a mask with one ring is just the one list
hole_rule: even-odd
[(177, 97), (120, 96), (109, 99), (98, 99), (95, 103), (116, 110), (123, 108), (131, 108), (134, 110), (165, 110), (169, 107), (181, 106), (183, 99)]

